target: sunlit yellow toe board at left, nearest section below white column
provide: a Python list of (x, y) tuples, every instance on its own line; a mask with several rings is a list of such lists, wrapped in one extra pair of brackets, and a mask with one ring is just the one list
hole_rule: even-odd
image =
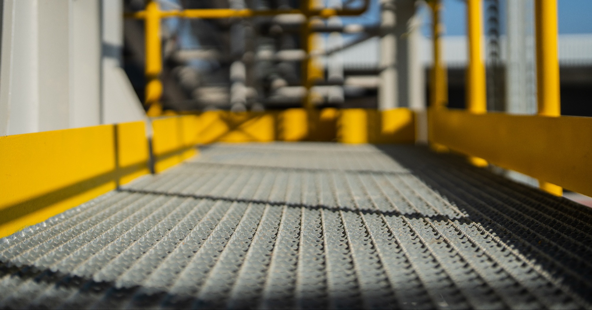
[(149, 173), (143, 122), (0, 137), (0, 237)]

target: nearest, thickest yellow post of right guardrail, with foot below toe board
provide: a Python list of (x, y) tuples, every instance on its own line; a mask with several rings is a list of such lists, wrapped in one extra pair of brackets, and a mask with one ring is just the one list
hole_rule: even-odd
[[(559, 57), (557, 47), (557, 1), (535, 1), (536, 95), (538, 115), (559, 117)], [(539, 187), (556, 196), (561, 186), (539, 180)]]

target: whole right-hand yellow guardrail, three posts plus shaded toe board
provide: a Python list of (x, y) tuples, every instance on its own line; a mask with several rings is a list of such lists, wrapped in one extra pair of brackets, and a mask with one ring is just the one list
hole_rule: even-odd
[(584, 132), (590, 130), (592, 119), (560, 117), (556, 0), (535, 1), (537, 116), (487, 114), (481, 0), (467, 0), (466, 4), (466, 110), (449, 111), (445, 108), (445, 69), (438, 43), (441, 4), (440, 0), (430, 2), (435, 20), (430, 143), (439, 150), (461, 151), (477, 166), (490, 162), (537, 177), (540, 188), (554, 195), (562, 195), (560, 186), (592, 195), (584, 177), (589, 170), (585, 159), (592, 153)]

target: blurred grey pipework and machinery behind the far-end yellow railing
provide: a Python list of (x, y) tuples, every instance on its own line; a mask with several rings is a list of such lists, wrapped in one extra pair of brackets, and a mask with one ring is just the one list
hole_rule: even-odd
[[(301, 5), (294, 1), (161, 3), (163, 9), (287, 10)], [(413, 70), (413, 66), (422, 66), (421, 59), (413, 57), (419, 54), (413, 51), (419, 50), (416, 11), (420, 4), (413, 0), (399, 1), (395, 10), (395, 1), (371, 1), (369, 10), (361, 17), (334, 16), (311, 21), (302, 14), (249, 19), (169, 19), (163, 23), (162, 31), (164, 108), (285, 109), (302, 106), (307, 89), (317, 108), (419, 108), (424, 104), (424, 80), (423, 73), (413, 76), (421, 71)], [(319, 1), (316, 5), (359, 8), (363, 1)], [(128, 11), (140, 10), (143, 6), (143, 1), (126, 1)], [(375, 14), (379, 10), (381, 13)], [(315, 33), (311, 40), (304, 40), (303, 27)], [(140, 98), (144, 93), (142, 29), (141, 21), (126, 20), (124, 63)], [(380, 64), (365, 63), (378, 60), (378, 50), (374, 46), (364, 46), (362, 59), (357, 55), (352, 59), (352, 52), (347, 53), (375, 37), (382, 42)], [(313, 85), (307, 86), (303, 85), (303, 63), (310, 60), (318, 73), (313, 74), (317, 75)], [(400, 67), (398, 73), (397, 66)], [(401, 75), (398, 79), (397, 74)], [(397, 92), (398, 88), (404, 91)]]

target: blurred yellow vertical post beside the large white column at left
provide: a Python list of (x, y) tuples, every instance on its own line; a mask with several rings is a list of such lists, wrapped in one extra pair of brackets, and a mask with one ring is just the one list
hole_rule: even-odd
[(146, 4), (146, 91), (145, 102), (148, 116), (158, 116), (162, 113), (160, 97), (162, 96), (162, 82), (159, 75), (162, 71), (162, 53), (160, 43), (160, 8), (156, 0), (149, 0)]

